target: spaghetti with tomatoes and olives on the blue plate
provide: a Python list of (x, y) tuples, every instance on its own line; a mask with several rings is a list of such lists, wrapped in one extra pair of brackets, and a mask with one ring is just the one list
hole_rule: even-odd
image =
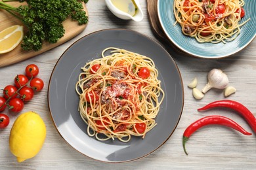
[(240, 34), (248, 22), (244, 17), (244, 0), (175, 0), (173, 10), (182, 33), (198, 42), (228, 42)]

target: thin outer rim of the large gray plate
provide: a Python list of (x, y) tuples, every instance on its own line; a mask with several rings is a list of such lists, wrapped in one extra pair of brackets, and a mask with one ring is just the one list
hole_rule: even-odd
[[(173, 62), (174, 66), (175, 66), (175, 70), (177, 70), (177, 73), (179, 75), (179, 78), (181, 80), (181, 91), (182, 91), (182, 95), (181, 95), (181, 98), (182, 98), (182, 103), (181, 103), (181, 111), (179, 112), (179, 119), (177, 120), (176, 124), (175, 124), (175, 127), (174, 129), (170, 132), (169, 136), (167, 137), (167, 139), (165, 139), (161, 144), (159, 144), (158, 147), (156, 147), (154, 150), (151, 150), (150, 152), (148, 152), (147, 154), (144, 154), (143, 156), (140, 156), (138, 158), (135, 158), (135, 159), (129, 159), (129, 160), (124, 160), (124, 161), (104, 161), (104, 160), (98, 160), (96, 158), (93, 158), (91, 156), (88, 156), (87, 154), (77, 150), (73, 145), (72, 143), (69, 143), (68, 141), (66, 141), (66, 139), (64, 138), (64, 136), (62, 135), (62, 133), (60, 132), (60, 130), (58, 129), (58, 127), (56, 126), (56, 123), (54, 121), (54, 118), (53, 118), (53, 114), (51, 112), (51, 108), (50, 108), (50, 99), (49, 99), (49, 94), (50, 94), (50, 85), (52, 83), (52, 78), (53, 78), (53, 74), (54, 74), (54, 71), (56, 71), (56, 67), (59, 63), (59, 61), (62, 59), (62, 57), (64, 56), (64, 54), (66, 54), (66, 52), (72, 48), (72, 46), (77, 43), (78, 41), (80, 41), (81, 39), (84, 39), (86, 37), (89, 37), (90, 35), (93, 35), (93, 34), (96, 34), (98, 32), (102, 32), (102, 31), (130, 31), (130, 32), (133, 32), (135, 34), (139, 34), (143, 37), (145, 37), (146, 39), (150, 40), (150, 41), (153, 41), (155, 42), (155, 44), (157, 44), (158, 46), (160, 46), (161, 48), (163, 48), (163, 50), (165, 50), (165, 52), (169, 55), (169, 59), (171, 59), (171, 61)], [(105, 162), (105, 163), (123, 163), (123, 162), (129, 162), (129, 161), (135, 161), (135, 160), (139, 160), (141, 158), (144, 158), (150, 154), (152, 154), (152, 152), (155, 152), (156, 150), (158, 150), (158, 148), (160, 148), (163, 144), (166, 143), (166, 141), (171, 137), (171, 135), (173, 135), (175, 129), (177, 129), (177, 126), (181, 120), (181, 116), (182, 116), (182, 112), (184, 110), (184, 86), (183, 86), (183, 80), (182, 80), (182, 76), (181, 76), (181, 71), (179, 70), (179, 67), (176, 63), (176, 61), (173, 59), (173, 57), (171, 56), (171, 54), (168, 52), (168, 50), (165, 48), (165, 46), (161, 45), (160, 42), (156, 41), (155, 39), (152, 39), (152, 37), (149, 37), (148, 35), (145, 35), (143, 33), (139, 33), (138, 31), (134, 31), (134, 30), (131, 30), (131, 29), (123, 29), (123, 28), (108, 28), (108, 29), (100, 29), (98, 31), (93, 31), (91, 33), (88, 33), (87, 35), (84, 35), (83, 37), (77, 39), (76, 41), (74, 41), (72, 44), (70, 44), (70, 46), (68, 46), (68, 48), (66, 48), (66, 50), (64, 50), (64, 52), (62, 52), (62, 54), (60, 55), (60, 57), (58, 58), (58, 60), (56, 61), (54, 67), (53, 67), (53, 71), (51, 73), (51, 76), (49, 78), (49, 84), (48, 84), (48, 88), (47, 88), (47, 103), (48, 103), (48, 109), (49, 109), (49, 114), (51, 116), (51, 120), (53, 121), (53, 125), (56, 129), (56, 131), (58, 131), (58, 134), (60, 135), (60, 137), (62, 137), (62, 139), (64, 139), (64, 141), (69, 145), (71, 146), (71, 148), (73, 148), (74, 150), (76, 150), (77, 152), (79, 152), (80, 154), (82, 154), (83, 156), (86, 156), (87, 158), (91, 158), (92, 160), (96, 160), (96, 161), (101, 161), (101, 162)]]

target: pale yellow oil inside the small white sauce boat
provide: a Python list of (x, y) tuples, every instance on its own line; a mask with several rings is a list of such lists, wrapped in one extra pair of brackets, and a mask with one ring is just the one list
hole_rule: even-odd
[(117, 7), (117, 9), (126, 12), (131, 16), (135, 16), (138, 7), (134, 0), (111, 0), (113, 5)]

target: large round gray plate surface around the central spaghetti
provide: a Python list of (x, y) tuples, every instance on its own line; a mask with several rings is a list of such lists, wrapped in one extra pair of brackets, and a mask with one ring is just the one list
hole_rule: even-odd
[[(100, 58), (102, 50), (110, 46), (152, 58), (160, 73), (158, 78), (166, 95), (156, 118), (158, 125), (144, 139), (132, 137), (129, 143), (117, 139), (97, 141), (87, 135), (87, 124), (77, 111), (75, 83), (80, 68)], [(184, 92), (175, 61), (158, 42), (127, 29), (105, 29), (79, 39), (58, 59), (49, 82), (48, 103), (56, 129), (75, 150), (95, 160), (123, 162), (147, 156), (171, 137), (181, 118)]]

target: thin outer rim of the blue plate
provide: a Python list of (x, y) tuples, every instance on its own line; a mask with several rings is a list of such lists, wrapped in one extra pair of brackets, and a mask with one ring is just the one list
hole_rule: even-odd
[[(195, 58), (204, 58), (204, 59), (221, 59), (221, 58), (228, 58), (229, 56), (232, 56), (234, 54), (236, 54), (237, 52), (240, 52), (241, 50), (243, 50), (244, 48), (246, 48), (256, 37), (256, 32), (255, 34), (253, 35), (253, 37), (251, 37), (251, 39), (249, 39), (249, 41), (247, 41), (244, 46), (232, 51), (232, 52), (229, 52), (228, 54), (225, 54), (225, 55), (215, 55), (215, 56), (205, 56), (205, 55), (201, 55), (201, 54), (194, 54), (193, 52), (189, 52), (188, 50), (186, 50), (185, 48), (183, 48), (182, 46), (180, 46), (179, 44), (177, 44), (173, 38), (167, 34), (167, 31), (163, 25), (163, 21), (160, 17), (160, 1), (161, 0), (157, 0), (158, 3), (157, 3), (157, 10), (158, 10), (158, 20), (160, 21), (160, 26), (161, 28), (163, 29), (163, 33), (166, 35), (166, 37), (169, 39), (169, 41), (172, 42), (172, 44), (174, 44), (177, 48), (179, 48), (180, 50), (182, 50), (182, 52), (185, 52), (186, 54), (190, 54), (190, 56), (192, 57), (195, 57)], [(165, 2), (165, 1), (161, 1), (161, 2)], [(172, 7), (173, 7), (173, 4), (172, 4)], [(252, 18), (252, 17), (251, 17)], [(232, 41), (231, 41), (232, 42)]]

